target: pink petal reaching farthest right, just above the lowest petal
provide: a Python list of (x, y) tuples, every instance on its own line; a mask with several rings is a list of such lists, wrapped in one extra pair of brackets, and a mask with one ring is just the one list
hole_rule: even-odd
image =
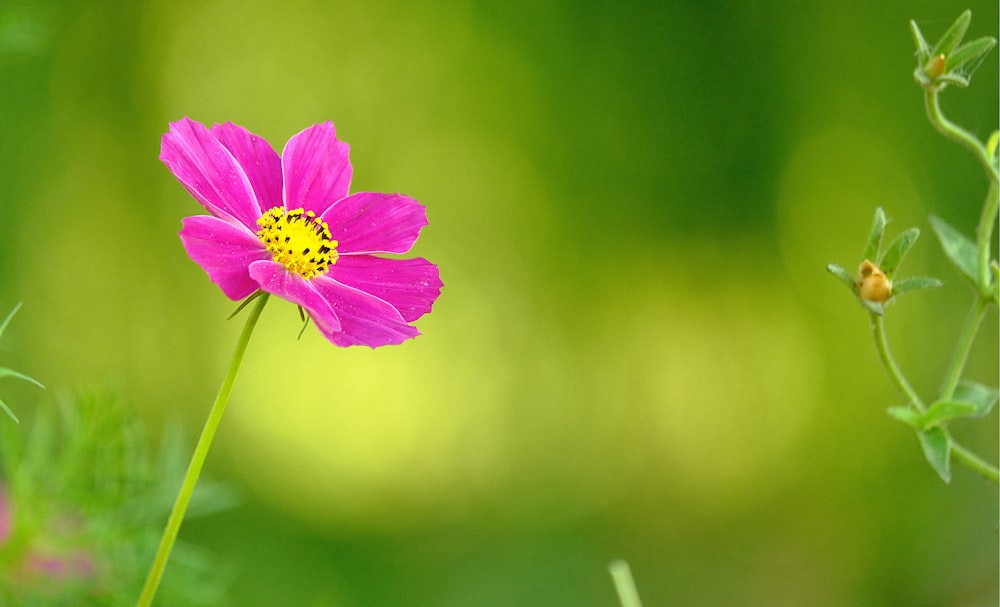
[(419, 257), (342, 255), (327, 276), (389, 303), (406, 322), (430, 312), (442, 287), (438, 267)]

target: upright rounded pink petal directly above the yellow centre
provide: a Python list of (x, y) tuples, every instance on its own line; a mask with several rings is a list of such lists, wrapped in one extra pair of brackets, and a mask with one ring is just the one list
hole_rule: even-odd
[(285, 208), (319, 214), (351, 187), (349, 147), (337, 139), (332, 122), (316, 124), (294, 135), (281, 153)]

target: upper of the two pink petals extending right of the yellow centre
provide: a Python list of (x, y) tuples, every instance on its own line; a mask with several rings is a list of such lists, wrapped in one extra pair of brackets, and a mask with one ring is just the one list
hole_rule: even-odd
[(405, 253), (427, 225), (424, 205), (402, 194), (358, 192), (333, 203), (321, 217), (344, 253)]

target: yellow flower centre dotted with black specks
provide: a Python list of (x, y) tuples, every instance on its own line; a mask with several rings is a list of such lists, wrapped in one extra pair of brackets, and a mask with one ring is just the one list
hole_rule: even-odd
[(326, 274), (337, 263), (337, 241), (330, 238), (326, 222), (303, 209), (274, 207), (257, 220), (257, 238), (274, 261), (302, 278)]

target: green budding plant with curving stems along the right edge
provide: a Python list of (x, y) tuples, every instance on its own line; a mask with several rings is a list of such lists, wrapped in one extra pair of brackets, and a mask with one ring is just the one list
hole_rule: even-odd
[(948, 120), (941, 112), (939, 103), (941, 91), (949, 85), (960, 88), (968, 86), (972, 73), (986, 53), (996, 46), (997, 41), (992, 37), (962, 43), (971, 18), (969, 11), (962, 13), (933, 46), (924, 39), (917, 24), (910, 22), (910, 30), (917, 46), (917, 67), (913, 76), (924, 91), (928, 118), (941, 134), (972, 152), (989, 180), (975, 239), (968, 238), (940, 217), (930, 217), (931, 227), (945, 255), (973, 287), (972, 309), (959, 332), (954, 354), (945, 368), (944, 380), (934, 400), (927, 403), (913, 389), (893, 357), (885, 331), (886, 306), (896, 296), (941, 285), (935, 278), (894, 280), (899, 264), (913, 246), (920, 230), (905, 230), (883, 249), (886, 216), (881, 208), (876, 209), (858, 275), (852, 275), (837, 264), (828, 265), (827, 270), (843, 281), (868, 311), (879, 358), (893, 383), (907, 399), (905, 406), (890, 407), (888, 412), (916, 432), (924, 456), (938, 475), (945, 482), (950, 481), (950, 465), (954, 458), (986, 478), (1000, 482), (1000, 471), (996, 466), (959, 444), (948, 431), (948, 424), (952, 421), (987, 415), (996, 404), (998, 396), (996, 387), (963, 380), (962, 376), (983, 318), (988, 311), (996, 310), (996, 305), (1000, 302), (1000, 266), (992, 256), (993, 228), (997, 221), (997, 203), (1000, 198), (1000, 163), (997, 157), (1000, 136), (994, 132), (986, 143), (980, 142), (974, 135)]

